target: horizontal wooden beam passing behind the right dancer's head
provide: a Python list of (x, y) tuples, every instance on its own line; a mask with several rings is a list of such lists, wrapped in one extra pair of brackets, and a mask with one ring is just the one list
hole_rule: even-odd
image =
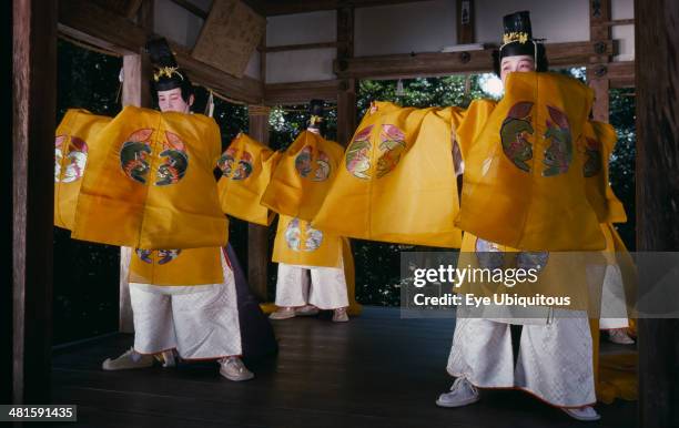
[[(468, 52), (423, 52), (337, 59), (334, 70), (340, 78), (398, 79), (493, 71), (491, 48)], [(612, 54), (611, 40), (546, 44), (550, 67), (588, 64), (597, 52)]]

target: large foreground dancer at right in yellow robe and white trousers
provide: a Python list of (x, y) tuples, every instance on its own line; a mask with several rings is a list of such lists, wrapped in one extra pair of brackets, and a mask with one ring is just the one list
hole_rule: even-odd
[[(473, 139), (457, 135), (465, 155), (457, 224), (463, 252), (470, 245), (479, 262), (517, 252), (539, 272), (551, 263), (548, 251), (605, 247), (576, 150), (592, 94), (544, 73), (545, 48), (533, 39), (527, 11), (506, 16), (504, 24), (496, 72), (505, 96)], [(587, 312), (543, 309), (549, 318), (501, 320), (464, 317), (458, 308), (447, 365), (456, 380), (436, 404), (460, 407), (479, 400), (478, 388), (517, 388), (575, 419), (598, 420)], [(523, 324), (516, 366), (507, 323)]]

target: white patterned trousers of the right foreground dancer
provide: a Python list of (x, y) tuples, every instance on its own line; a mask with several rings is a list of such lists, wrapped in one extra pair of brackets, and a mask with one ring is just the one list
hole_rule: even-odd
[(509, 324), (457, 318), (448, 374), (480, 388), (523, 389), (553, 406), (594, 405), (591, 332), (580, 315), (523, 326), (516, 368)]

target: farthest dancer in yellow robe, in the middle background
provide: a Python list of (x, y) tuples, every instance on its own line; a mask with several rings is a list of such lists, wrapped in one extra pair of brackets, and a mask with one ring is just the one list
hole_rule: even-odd
[(333, 322), (347, 322), (347, 276), (354, 274), (348, 240), (308, 223), (335, 177), (343, 149), (321, 136), (323, 101), (312, 100), (307, 130), (286, 150), (261, 201), (280, 213), (273, 251), (278, 309), (271, 318), (330, 309)]

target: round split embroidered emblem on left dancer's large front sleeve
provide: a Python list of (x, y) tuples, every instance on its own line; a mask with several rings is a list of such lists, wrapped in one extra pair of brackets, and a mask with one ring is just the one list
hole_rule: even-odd
[[(120, 150), (120, 166), (123, 173), (141, 184), (146, 184), (151, 171), (152, 134), (152, 129), (134, 131)], [(189, 169), (189, 155), (184, 142), (178, 134), (165, 131), (165, 141), (158, 156), (162, 163), (158, 166), (153, 184), (165, 186), (175, 184), (184, 177)]]

